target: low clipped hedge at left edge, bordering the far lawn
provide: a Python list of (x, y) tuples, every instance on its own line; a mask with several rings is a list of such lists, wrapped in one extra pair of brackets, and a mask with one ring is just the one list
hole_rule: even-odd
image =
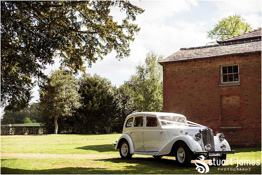
[[(11, 129), (11, 130), (10, 130)], [(42, 126), (1, 126), (1, 135), (46, 134)]]

